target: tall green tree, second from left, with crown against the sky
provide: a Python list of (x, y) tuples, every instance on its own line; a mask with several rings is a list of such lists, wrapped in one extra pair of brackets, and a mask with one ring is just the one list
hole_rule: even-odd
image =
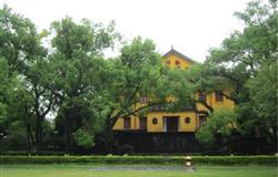
[(51, 74), (48, 87), (56, 96), (57, 128), (68, 150), (73, 143), (72, 133), (79, 128), (93, 138), (92, 127), (98, 121), (90, 110), (90, 100), (98, 85), (105, 84), (99, 75), (105, 64), (103, 50), (112, 48), (119, 34), (115, 32), (113, 22), (108, 27), (89, 20), (77, 24), (70, 18), (53, 22), (51, 32), (53, 52), (49, 55)]

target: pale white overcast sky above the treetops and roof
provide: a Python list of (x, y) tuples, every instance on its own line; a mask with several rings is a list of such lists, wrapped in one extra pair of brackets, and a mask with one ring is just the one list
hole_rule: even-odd
[[(248, 0), (249, 1), (249, 0)], [(13, 11), (32, 20), (39, 30), (48, 29), (66, 15), (76, 21), (87, 18), (116, 29), (127, 41), (137, 35), (153, 40), (157, 51), (168, 52), (173, 45), (185, 55), (202, 62), (209, 48), (242, 23), (234, 17), (247, 0), (0, 0)]]

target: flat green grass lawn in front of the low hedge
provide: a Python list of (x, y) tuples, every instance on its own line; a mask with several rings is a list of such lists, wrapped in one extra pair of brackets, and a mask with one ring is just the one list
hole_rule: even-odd
[(274, 166), (2, 165), (0, 177), (276, 177)]

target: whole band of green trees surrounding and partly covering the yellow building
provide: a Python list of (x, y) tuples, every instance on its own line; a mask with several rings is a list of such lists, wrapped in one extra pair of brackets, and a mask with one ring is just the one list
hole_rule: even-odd
[[(232, 149), (232, 139), (277, 140), (277, 11), (275, 1), (249, 2), (242, 31), (211, 49), (203, 63), (169, 70), (151, 40), (130, 43), (108, 25), (70, 17), (38, 31), (7, 6), (0, 9), (0, 143), (2, 150), (88, 150), (96, 144), (112, 152), (112, 127), (120, 117), (207, 107), (198, 129), (203, 147)], [(121, 43), (120, 54), (105, 51)], [(214, 111), (195, 93), (225, 90), (235, 110)], [(141, 95), (143, 107), (135, 108)], [(167, 101), (169, 95), (175, 102)], [(227, 126), (229, 125), (229, 126)], [(232, 125), (232, 126), (230, 126)], [(259, 145), (258, 145), (259, 146)]]

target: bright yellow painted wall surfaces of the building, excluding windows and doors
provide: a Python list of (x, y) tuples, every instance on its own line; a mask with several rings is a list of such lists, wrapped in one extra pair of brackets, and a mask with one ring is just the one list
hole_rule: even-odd
[[(180, 69), (188, 69), (190, 65), (192, 65), (193, 63), (191, 61), (181, 59), (179, 55), (175, 55), (175, 54), (169, 54), (167, 55), (167, 58), (162, 59), (162, 64), (163, 65), (168, 65), (167, 61), (170, 61), (170, 69), (175, 69), (176, 67), (176, 61), (179, 61), (180, 63)], [(198, 94), (196, 94), (196, 96), (198, 96)], [(198, 98), (198, 97), (196, 97)], [(232, 101), (226, 98), (224, 96), (224, 101), (222, 102), (216, 102), (216, 96), (215, 93), (210, 93), (207, 94), (207, 103), (208, 105), (210, 105), (211, 107), (214, 107), (214, 110), (218, 110), (218, 108), (222, 108), (222, 107), (230, 107), (234, 108), (235, 104)], [(138, 103), (135, 105), (135, 108), (143, 106), (145, 104)], [(207, 108), (202, 105), (202, 104), (197, 104), (197, 108), (198, 111), (207, 111)], [(196, 132), (197, 128), (199, 127), (199, 117), (198, 114), (196, 114), (195, 112), (177, 112), (177, 113), (166, 113), (166, 112), (150, 112), (147, 114), (147, 131), (150, 133), (155, 133), (155, 132), (163, 132), (163, 117), (167, 116), (178, 116), (179, 117), (179, 132)], [(152, 118), (156, 117), (158, 123), (157, 124), (152, 124)], [(186, 124), (185, 119), (186, 117), (190, 117), (190, 123)], [(140, 129), (140, 118), (138, 116), (131, 116), (131, 127), (130, 129), (136, 131), (136, 129)], [(119, 118), (119, 121), (117, 122), (117, 124), (113, 127), (115, 131), (120, 131), (123, 129), (123, 119)]]

